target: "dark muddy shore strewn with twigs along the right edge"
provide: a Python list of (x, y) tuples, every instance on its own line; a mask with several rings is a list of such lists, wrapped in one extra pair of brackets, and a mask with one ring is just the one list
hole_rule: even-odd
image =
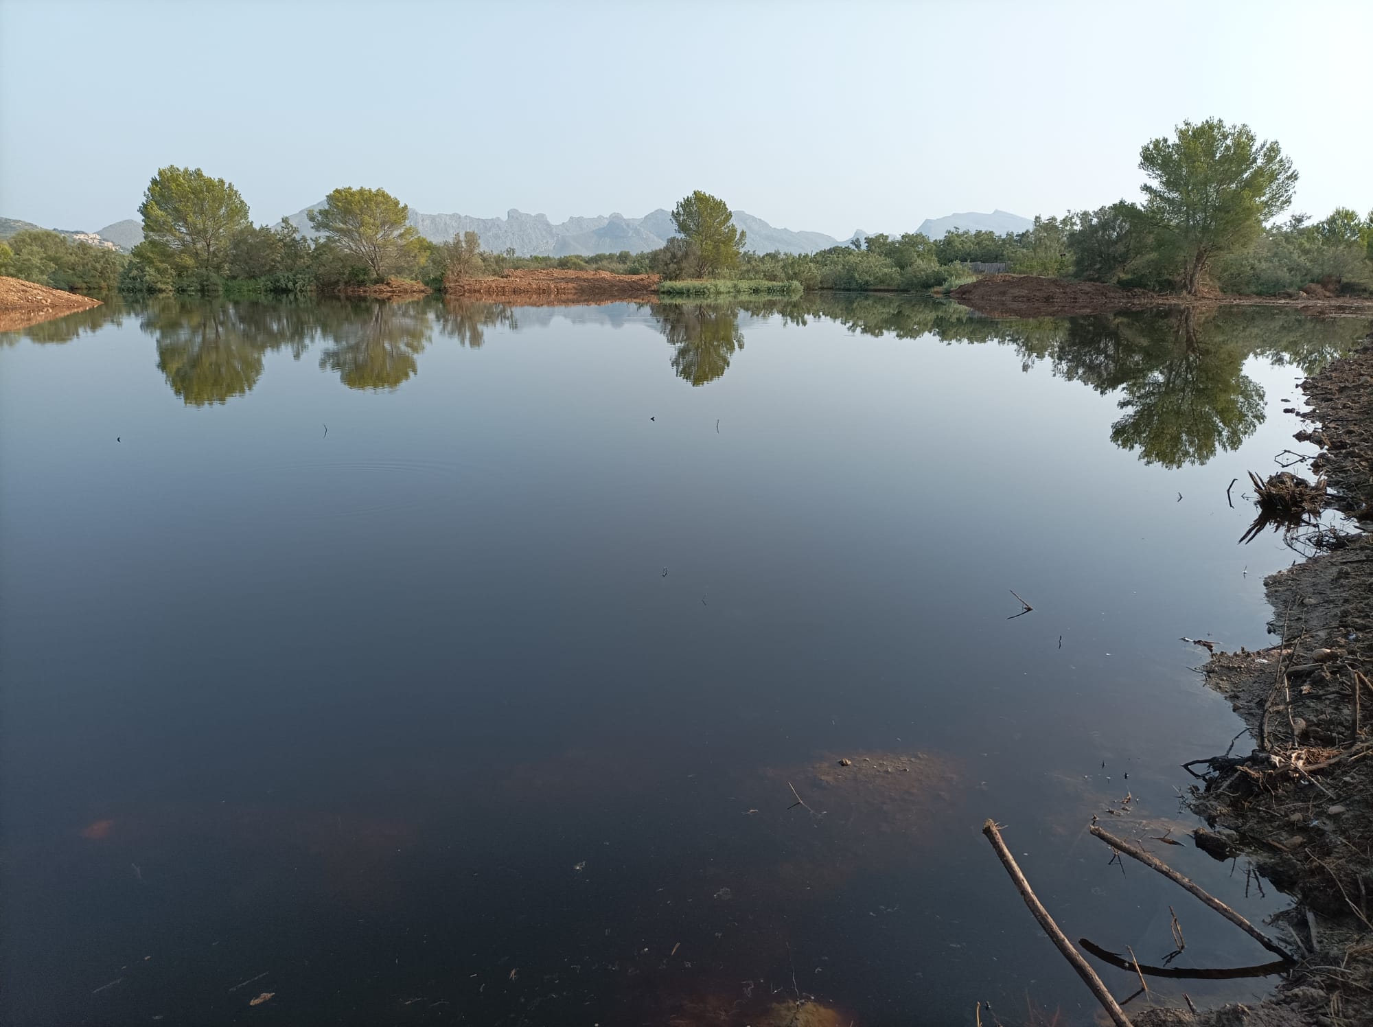
[(1302, 389), (1313, 427), (1296, 437), (1322, 448), (1306, 476), (1324, 476), (1326, 508), (1350, 520), (1265, 579), (1278, 644), (1207, 663), (1254, 752), (1195, 766), (1204, 780), (1189, 798), (1208, 825), (1197, 847), (1251, 859), (1295, 899), (1267, 930), (1302, 958), (1269, 1001), (1155, 1009), (1134, 1016), (1138, 1027), (1373, 1023), (1373, 336)]

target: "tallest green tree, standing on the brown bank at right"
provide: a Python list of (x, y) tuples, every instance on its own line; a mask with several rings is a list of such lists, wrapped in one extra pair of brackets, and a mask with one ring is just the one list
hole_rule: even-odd
[(1184, 121), (1173, 139), (1140, 151), (1144, 216), (1197, 292), (1211, 262), (1254, 243), (1263, 225), (1292, 203), (1296, 170), (1274, 141), (1259, 141), (1248, 125), (1210, 118)]

